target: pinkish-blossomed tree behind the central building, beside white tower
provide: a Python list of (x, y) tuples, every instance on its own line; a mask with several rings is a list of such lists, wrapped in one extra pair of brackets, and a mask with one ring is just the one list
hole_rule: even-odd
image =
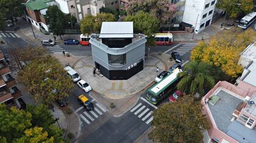
[(176, 12), (176, 5), (166, 0), (132, 0), (127, 5), (129, 15), (135, 15), (140, 10), (158, 18), (160, 24), (165, 24), (169, 17)]

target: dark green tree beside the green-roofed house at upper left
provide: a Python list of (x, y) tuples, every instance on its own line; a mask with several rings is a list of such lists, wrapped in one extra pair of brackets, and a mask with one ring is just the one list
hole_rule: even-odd
[(46, 19), (49, 23), (49, 30), (62, 39), (62, 35), (65, 34), (65, 24), (67, 22), (65, 21), (65, 13), (57, 5), (52, 5), (46, 11)]

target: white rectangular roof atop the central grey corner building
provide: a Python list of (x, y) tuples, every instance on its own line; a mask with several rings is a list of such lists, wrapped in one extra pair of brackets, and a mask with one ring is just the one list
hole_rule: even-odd
[(102, 22), (99, 38), (133, 38), (133, 22)]

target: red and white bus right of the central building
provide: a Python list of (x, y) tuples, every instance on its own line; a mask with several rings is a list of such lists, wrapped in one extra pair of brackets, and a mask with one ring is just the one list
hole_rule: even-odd
[(155, 41), (157, 45), (171, 45), (173, 42), (172, 33), (157, 33)]

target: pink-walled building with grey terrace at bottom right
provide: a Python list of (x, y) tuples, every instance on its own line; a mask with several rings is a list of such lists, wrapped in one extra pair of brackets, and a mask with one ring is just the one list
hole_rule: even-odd
[(256, 141), (256, 87), (219, 81), (202, 98), (201, 104), (210, 122), (204, 142)]

